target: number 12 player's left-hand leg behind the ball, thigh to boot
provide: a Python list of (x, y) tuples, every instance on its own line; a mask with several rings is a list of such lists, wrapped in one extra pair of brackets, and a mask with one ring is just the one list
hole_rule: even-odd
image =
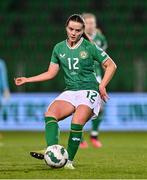
[[(71, 103), (63, 100), (56, 100), (50, 105), (48, 111), (45, 113), (45, 138), (47, 146), (58, 144), (58, 121), (71, 115), (74, 110), (75, 108)], [(44, 150), (32, 151), (30, 155), (37, 159), (43, 159), (44, 152)]]

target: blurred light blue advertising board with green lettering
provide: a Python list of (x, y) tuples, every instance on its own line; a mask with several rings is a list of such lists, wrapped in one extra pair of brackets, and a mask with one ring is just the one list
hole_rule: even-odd
[[(0, 130), (44, 130), (44, 112), (59, 93), (12, 94), (0, 101)], [(101, 130), (147, 130), (147, 93), (110, 93)], [(69, 130), (71, 118), (59, 123)], [(89, 121), (85, 130), (90, 130)]]

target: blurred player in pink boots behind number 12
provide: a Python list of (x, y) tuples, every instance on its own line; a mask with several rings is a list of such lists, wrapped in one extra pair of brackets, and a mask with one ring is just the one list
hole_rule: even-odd
[[(101, 29), (97, 27), (96, 16), (92, 13), (83, 13), (82, 16), (85, 20), (85, 32), (90, 38), (90, 40), (93, 41), (98, 47), (106, 51), (107, 40), (103, 35)], [(94, 64), (94, 71), (95, 71), (96, 79), (100, 83), (102, 79), (103, 69), (102, 66), (96, 61)], [(96, 148), (102, 147), (102, 143), (100, 142), (98, 137), (99, 127), (102, 122), (102, 114), (103, 114), (103, 105), (101, 105), (99, 116), (95, 116), (92, 119), (92, 130), (91, 130), (90, 141), (92, 145)], [(84, 140), (84, 138), (82, 138), (82, 141), (80, 143), (80, 148), (87, 148), (87, 147), (88, 147), (88, 143)]]

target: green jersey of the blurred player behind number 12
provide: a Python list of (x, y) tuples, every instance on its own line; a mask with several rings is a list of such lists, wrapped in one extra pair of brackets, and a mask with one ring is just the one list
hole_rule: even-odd
[[(100, 47), (104, 51), (107, 49), (107, 40), (100, 31), (97, 31), (95, 34), (93, 34), (91, 36), (91, 38), (98, 47)], [(94, 72), (95, 72), (96, 77), (99, 77), (99, 78), (102, 77), (103, 69), (102, 69), (100, 63), (97, 61), (95, 61), (95, 63), (94, 63)]]

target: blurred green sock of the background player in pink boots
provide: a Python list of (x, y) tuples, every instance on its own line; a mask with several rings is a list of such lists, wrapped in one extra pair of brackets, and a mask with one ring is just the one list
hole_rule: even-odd
[(92, 119), (92, 131), (98, 131), (102, 122), (102, 112), (98, 116)]

